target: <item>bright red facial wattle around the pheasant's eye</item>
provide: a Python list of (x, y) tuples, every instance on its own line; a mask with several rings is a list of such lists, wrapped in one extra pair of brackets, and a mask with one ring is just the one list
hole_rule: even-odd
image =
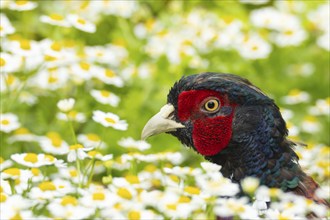
[(229, 106), (234, 109), (227, 96), (212, 90), (189, 90), (179, 95), (178, 117), (193, 124), (192, 139), (196, 150), (204, 156), (212, 156), (223, 150), (232, 135), (234, 111), (229, 115), (210, 117), (201, 110), (204, 100), (215, 97), (220, 100), (220, 108)]

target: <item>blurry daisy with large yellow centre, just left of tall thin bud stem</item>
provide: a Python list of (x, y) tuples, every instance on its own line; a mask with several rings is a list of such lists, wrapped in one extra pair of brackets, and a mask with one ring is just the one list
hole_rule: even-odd
[(56, 132), (49, 132), (45, 137), (39, 138), (39, 144), (47, 153), (63, 155), (69, 152), (69, 145)]

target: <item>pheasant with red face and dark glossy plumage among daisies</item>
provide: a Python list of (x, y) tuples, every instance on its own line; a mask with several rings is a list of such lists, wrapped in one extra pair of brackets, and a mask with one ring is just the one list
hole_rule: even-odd
[(142, 138), (163, 132), (221, 165), (223, 176), (233, 182), (256, 177), (261, 185), (329, 207), (316, 196), (318, 184), (299, 166), (278, 106), (242, 77), (212, 72), (182, 77), (167, 104), (146, 123)]

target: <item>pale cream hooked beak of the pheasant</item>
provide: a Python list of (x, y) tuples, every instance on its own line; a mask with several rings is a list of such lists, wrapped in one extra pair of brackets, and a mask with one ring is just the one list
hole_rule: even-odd
[(176, 122), (173, 118), (174, 106), (164, 105), (160, 111), (155, 114), (144, 126), (141, 134), (143, 140), (150, 136), (163, 132), (176, 131), (178, 128), (184, 128), (184, 125)]

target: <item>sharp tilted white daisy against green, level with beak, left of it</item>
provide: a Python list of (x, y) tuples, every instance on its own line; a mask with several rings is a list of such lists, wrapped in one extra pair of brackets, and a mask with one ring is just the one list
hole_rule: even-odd
[(127, 130), (128, 124), (124, 120), (120, 120), (118, 115), (111, 112), (102, 112), (96, 110), (93, 112), (93, 120), (100, 123), (104, 127), (113, 127), (116, 130)]

